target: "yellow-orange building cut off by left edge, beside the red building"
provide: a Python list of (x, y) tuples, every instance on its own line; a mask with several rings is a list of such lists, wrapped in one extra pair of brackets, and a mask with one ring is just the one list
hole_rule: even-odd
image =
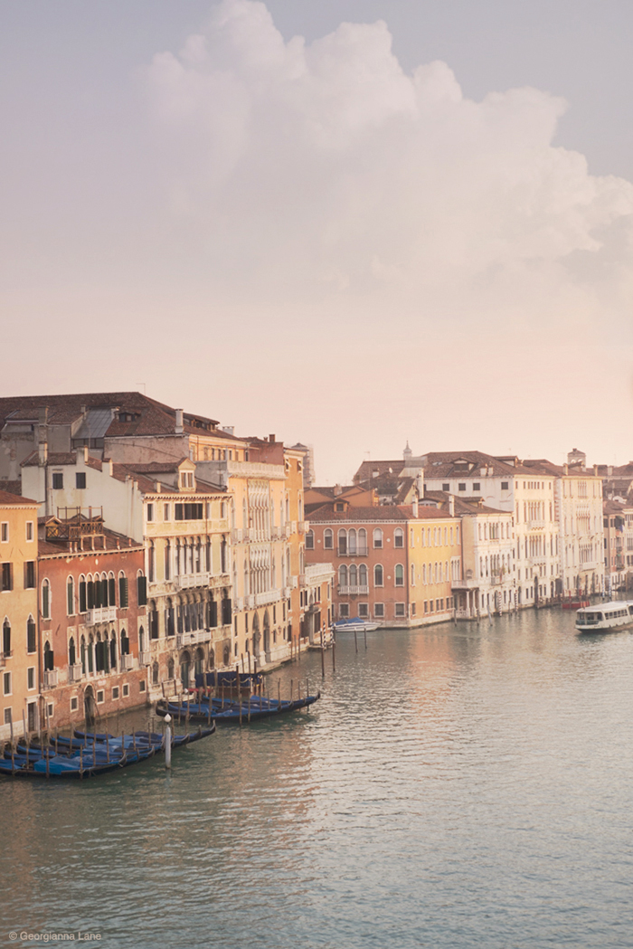
[(0, 739), (38, 728), (37, 501), (0, 491)]

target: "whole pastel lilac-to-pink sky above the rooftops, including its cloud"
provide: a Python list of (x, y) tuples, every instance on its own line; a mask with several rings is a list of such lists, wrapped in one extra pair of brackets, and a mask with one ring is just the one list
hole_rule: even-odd
[(624, 0), (0, 0), (0, 392), (633, 458)]

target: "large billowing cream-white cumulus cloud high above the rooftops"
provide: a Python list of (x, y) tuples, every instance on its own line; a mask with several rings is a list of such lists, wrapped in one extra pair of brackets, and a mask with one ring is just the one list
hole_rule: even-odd
[(566, 104), (549, 93), (473, 102), (444, 63), (405, 74), (383, 22), (307, 46), (252, 0), (220, 3), (144, 83), (175, 227), (218, 280), (247, 262), (254, 292), (343, 294), (350, 312), (627, 292), (633, 186), (552, 145)]

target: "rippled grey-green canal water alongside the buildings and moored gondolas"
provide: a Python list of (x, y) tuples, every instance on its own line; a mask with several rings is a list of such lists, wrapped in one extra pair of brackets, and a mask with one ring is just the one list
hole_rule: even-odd
[(531, 610), (358, 644), (269, 677), (309, 713), (171, 774), (3, 780), (0, 944), (633, 945), (633, 635)]

